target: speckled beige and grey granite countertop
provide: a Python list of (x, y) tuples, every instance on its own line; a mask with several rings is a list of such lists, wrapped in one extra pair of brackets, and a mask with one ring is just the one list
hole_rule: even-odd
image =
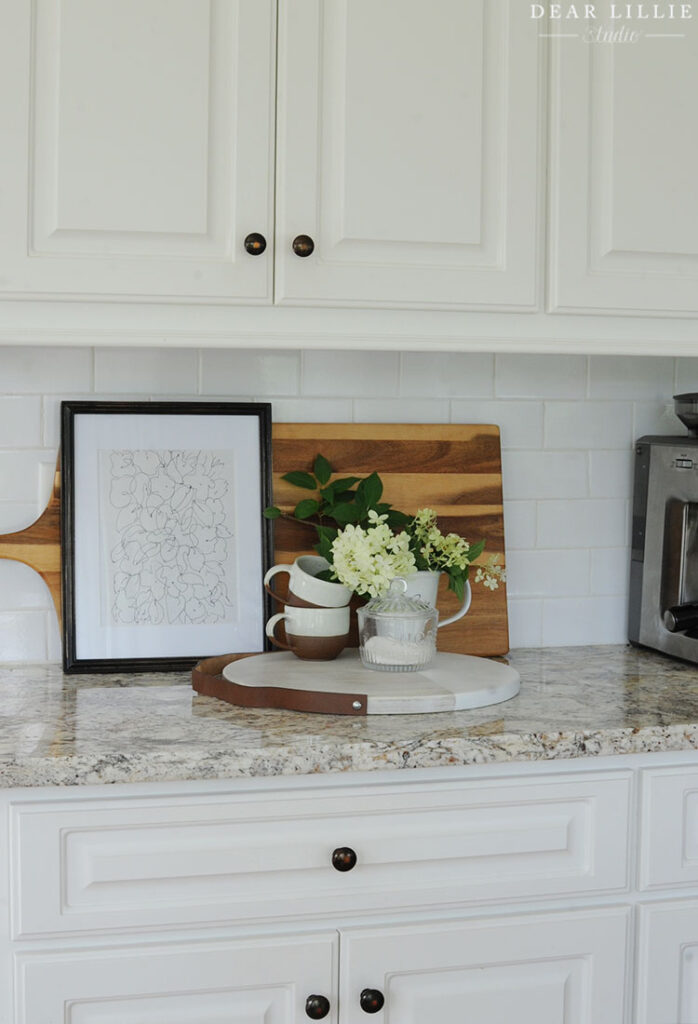
[[(625, 646), (515, 650), (517, 697), (349, 718), (256, 711), (185, 674), (0, 668), (0, 786), (233, 778), (698, 750), (698, 668)], [(328, 671), (332, 671), (329, 667)]]

